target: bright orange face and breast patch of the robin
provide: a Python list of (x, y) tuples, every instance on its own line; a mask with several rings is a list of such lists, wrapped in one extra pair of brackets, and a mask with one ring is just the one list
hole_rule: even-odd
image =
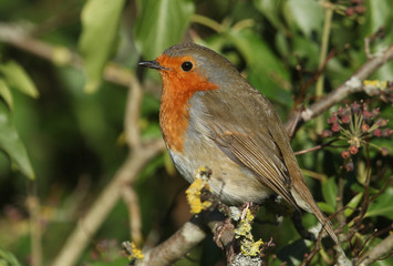
[[(159, 108), (159, 126), (164, 140), (172, 151), (183, 152), (185, 132), (188, 126), (189, 100), (195, 92), (217, 90), (218, 86), (209, 82), (197, 71), (184, 72), (183, 62), (192, 60), (189, 57), (169, 58), (163, 54), (157, 62), (167, 68), (161, 71), (163, 93)], [(197, 65), (195, 65), (197, 69)]]

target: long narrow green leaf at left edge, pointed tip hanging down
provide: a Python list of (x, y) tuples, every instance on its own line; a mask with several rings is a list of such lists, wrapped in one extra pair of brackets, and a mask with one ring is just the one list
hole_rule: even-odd
[(34, 178), (28, 152), (19, 137), (18, 131), (10, 121), (9, 112), (4, 104), (0, 103), (0, 149), (3, 150), (19, 170), (29, 178)]

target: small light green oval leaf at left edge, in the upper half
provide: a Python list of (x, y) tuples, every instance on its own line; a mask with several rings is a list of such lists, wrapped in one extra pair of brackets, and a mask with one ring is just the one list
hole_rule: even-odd
[(40, 95), (29, 74), (17, 62), (9, 61), (4, 64), (0, 64), (0, 72), (2, 72), (4, 80), (11, 88), (32, 98)]

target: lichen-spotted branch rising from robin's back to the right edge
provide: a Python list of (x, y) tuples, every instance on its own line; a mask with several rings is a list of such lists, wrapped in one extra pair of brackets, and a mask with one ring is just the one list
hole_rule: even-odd
[(385, 49), (381, 55), (374, 57), (365, 62), (350, 79), (348, 79), (343, 84), (337, 88), (334, 91), (327, 94), (320, 101), (311, 104), (308, 109), (303, 111), (298, 111), (291, 114), (286, 123), (286, 129), (288, 132), (291, 131), (293, 124), (297, 123), (297, 117), (300, 117), (301, 122), (306, 123), (316, 116), (322, 114), (324, 111), (329, 110), (334, 104), (341, 102), (350, 94), (355, 92), (365, 91), (362, 85), (362, 81), (374, 73), (379, 68), (381, 68), (384, 63), (393, 59), (393, 44), (391, 44), (387, 49)]

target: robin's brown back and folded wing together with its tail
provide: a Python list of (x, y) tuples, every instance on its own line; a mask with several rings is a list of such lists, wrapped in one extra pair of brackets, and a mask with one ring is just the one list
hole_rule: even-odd
[(297, 209), (313, 213), (338, 243), (331, 223), (307, 187), (280, 117), (263, 95), (248, 83), (245, 86), (201, 93), (199, 123), (228, 157), (255, 173)]

